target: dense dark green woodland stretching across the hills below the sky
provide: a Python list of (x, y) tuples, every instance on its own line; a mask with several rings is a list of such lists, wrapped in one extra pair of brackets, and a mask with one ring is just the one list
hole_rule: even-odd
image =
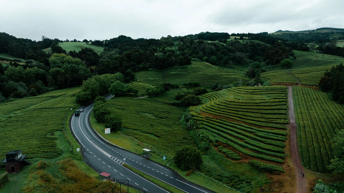
[[(306, 35), (320, 41), (319, 34), (326, 39), (333, 33)], [(243, 41), (227, 41), (230, 36), (238, 36)], [(267, 32), (231, 35), (205, 32), (183, 37), (168, 35), (160, 39), (132, 39), (121, 35), (109, 40), (82, 41), (85, 44), (90, 42), (94, 46), (104, 47), (99, 56), (90, 48), (66, 53), (58, 43), (68, 42), (68, 39), (42, 36), (41, 41), (33, 41), (0, 33), (0, 53), (25, 60), (25, 64), (14, 59), (4, 67), (0, 65), (0, 101), (82, 85), (83, 81), (93, 75), (121, 73), (123, 82), (129, 83), (137, 81), (135, 72), (189, 65), (192, 60), (225, 68), (252, 62), (269, 66), (292, 58), (292, 50), (309, 51), (309, 47), (304, 44), (307, 40), (293, 39), (293, 35), (288, 37), (284, 34), (269, 35)], [(259, 40), (262, 43), (250, 40)], [(76, 39), (72, 41), (80, 42)], [(47, 54), (42, 50), (49, 47), (52, 53)], [(344, 48), (336, 47), (335, 44), (324, 44), (318, 49), (323, 53), (344, 56)], [(96, 68), (90, 68), (91, 66)]]

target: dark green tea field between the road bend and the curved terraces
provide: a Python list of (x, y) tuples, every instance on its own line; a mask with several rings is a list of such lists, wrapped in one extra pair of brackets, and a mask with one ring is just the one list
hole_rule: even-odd
[(196, 146), (179, 122), (184, 108), (168, 104), (177, 92), (180, 90), (152, 98), (117, 97), (108, 100), (107, 105), (122, 118), (124, 134), (171, 155), (179, 146)]

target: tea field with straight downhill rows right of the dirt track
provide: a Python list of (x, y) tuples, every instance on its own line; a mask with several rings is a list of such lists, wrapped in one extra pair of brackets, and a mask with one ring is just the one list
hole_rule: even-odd
[(344, 126), (344, 107), (324, 92), (300, 86), (293, 87), (293, 100), (302, 164), (314, 171), (328, 171), (335, 129)]

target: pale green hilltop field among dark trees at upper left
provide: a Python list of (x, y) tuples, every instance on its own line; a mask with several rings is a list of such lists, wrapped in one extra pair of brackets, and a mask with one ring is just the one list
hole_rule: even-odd
[[(58, 45), (62, 49), (66, 50), (66, 52), (74, 51), (74, 50), (78, 52), (81, 50), (81, 48), (91, 48), (95, 52), (97, 52), (98, 55), (100, 55), (100, 52), (104, 50), (103, 47), (92, 46), (91, 43), (86, 44), (85, 42), (62, 42), (62, 43), (58, 43)], [(51, 53), (51, 48), (43, 49), (43, 51), (45, 51), (45, 53)]]

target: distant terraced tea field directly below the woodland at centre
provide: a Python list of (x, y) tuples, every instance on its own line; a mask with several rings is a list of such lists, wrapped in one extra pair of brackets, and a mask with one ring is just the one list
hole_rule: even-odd
[(198, 81), (200, 86), (211, 86), (217, 82), (224, 85), (238, 80), (249, 81), (244, 72), (219, 68), (206, 62), (192, 61), (191, 65), (173, 67), (165, 70), (137, 72), (141, 83), (157, 85), (163, 82), (178, 83)]

